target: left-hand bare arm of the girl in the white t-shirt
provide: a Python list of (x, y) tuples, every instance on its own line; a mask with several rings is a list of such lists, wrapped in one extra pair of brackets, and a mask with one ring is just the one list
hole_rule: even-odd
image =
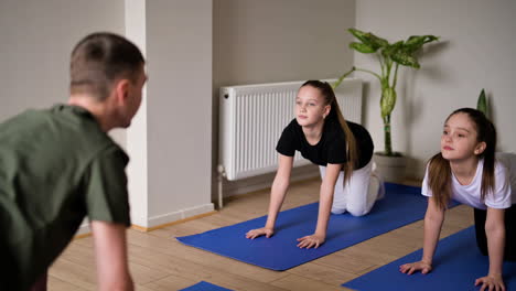
[(444, 209), (441, 209), (433, 197), (428, 198), (427, 214), (424, 215), (423, 255), (420, 261), (405, 263), (399, 267), (402, 273), (411, 274), (415, 271), (428, 273), (432, 270), (432, 259), (436, 252), (442, 222), (444, 222)]

